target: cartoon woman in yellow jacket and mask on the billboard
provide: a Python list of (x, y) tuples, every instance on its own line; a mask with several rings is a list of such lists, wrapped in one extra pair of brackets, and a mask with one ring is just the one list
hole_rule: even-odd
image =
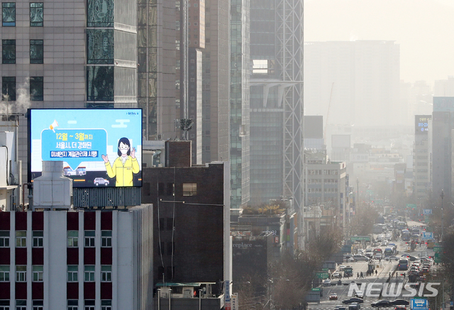
[(121, 138), (118, 141), (118, 158), (111, 166), (107, 155), (101, 155), (106, 165), (107, 175), (116, 177), (115, 186), (117, 187), (132, 187), (133, 173), (138, 173), (139, 163), (135, 158), (135, 148), (131, 150), (131, 144), (128, 138)]

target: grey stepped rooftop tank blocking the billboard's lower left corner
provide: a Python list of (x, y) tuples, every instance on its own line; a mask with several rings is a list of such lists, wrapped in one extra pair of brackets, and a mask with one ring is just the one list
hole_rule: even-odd
[(43, 161), (43, 175), (33, 180), (33, 208), (70, 209), (72, 179), (63, 176), (62, 161)]

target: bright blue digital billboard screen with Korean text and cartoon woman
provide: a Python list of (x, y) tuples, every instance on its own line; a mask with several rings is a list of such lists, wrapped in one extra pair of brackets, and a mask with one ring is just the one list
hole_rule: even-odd
[(63, 161), (73, 187), (142, 186), (141, 109), (29, 109), (28, 177)]

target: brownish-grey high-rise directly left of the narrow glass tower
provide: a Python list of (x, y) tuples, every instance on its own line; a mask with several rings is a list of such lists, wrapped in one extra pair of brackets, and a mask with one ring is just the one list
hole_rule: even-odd
[(230, 1), (205, 1), (202, 54), (202, 162), (228, 161), (230, 153)]

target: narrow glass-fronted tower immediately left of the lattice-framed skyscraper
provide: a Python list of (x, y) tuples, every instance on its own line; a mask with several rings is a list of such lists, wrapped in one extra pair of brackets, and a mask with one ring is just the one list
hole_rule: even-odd
[(231, 207), (250, 199), (249, 0), (231, 1)]

